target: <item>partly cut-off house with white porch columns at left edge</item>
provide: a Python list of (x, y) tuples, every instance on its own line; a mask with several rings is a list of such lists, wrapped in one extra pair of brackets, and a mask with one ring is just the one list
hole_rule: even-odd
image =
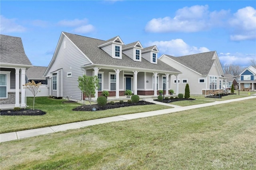
[[(0, 107), (26, 107), (25, 71), (32, 67), (19, 37), (0, 35)], [(5, 106), (4, 106), (5, 105)]]

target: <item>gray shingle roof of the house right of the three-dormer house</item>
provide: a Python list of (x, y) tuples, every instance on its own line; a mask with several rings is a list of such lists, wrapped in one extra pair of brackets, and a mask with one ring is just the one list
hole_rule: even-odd
[(186, 67), (202, 75), (208, 75), (214, 63), (214, 59), (212, 58), (215, 52), (216, 51), (210, 51), (206, 53), (184, 55), (181, 57), (173, 57), (171, 55), (166, 55), (166, 56), (170, 57), (171, 59), (185, 65)]

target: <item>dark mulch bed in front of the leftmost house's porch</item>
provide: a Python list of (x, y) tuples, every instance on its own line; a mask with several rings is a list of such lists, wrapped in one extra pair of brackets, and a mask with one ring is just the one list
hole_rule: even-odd
[(38, 115), (45, 115), (46, 112), (35, 109), (21, 109), (20, 111), (14, 111), (14, 110), (3, 110), (0, 111), (0, 115), (2, 116), (38, 116)]

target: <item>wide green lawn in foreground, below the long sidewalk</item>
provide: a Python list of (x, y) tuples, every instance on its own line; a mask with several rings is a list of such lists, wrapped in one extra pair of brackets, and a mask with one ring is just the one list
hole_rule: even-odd
[(1, 170), (255, 169), (256, 99), (3, 142)]

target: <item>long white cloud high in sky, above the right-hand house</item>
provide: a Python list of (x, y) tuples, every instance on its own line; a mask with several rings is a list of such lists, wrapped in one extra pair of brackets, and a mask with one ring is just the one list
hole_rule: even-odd
[(153, 18), (145, 27), (146, 32), (198, 32), (208, 30), (213, 26), (221, 25), (228, 11), (209, 12), (208, 5), (184, 7), (176, 11), (171, 18)]

